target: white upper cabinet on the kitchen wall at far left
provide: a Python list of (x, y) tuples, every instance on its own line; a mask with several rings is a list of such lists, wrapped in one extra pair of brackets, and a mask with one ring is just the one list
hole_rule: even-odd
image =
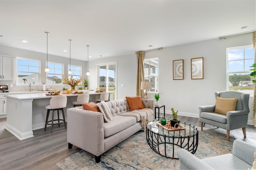
[(14, 58), (0, 56), (0, 80), (14, 79)]

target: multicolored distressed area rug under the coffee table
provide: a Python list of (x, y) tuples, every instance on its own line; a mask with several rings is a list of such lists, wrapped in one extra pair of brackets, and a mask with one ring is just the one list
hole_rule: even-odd
[[(226, 130), (216, 127), (204, 127), (199, 130), (198, 149), (194, 154), (198, 158), (207, 158), (232, 153), (234, 135), (230, 132), (230, 141), (226, 141)], [(179, 160), (166, 158), (154, 152), (148, 146), (146, 133), (137, 132), (122, 141), (101, 156), (97, 164), (94, 155), (80, 150), (56, 164), (62, 170), (176, 170)]]

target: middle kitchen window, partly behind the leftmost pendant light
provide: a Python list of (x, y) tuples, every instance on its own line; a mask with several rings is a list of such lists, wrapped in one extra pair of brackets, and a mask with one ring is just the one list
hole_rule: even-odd
[(50, 72), (46, 72), (46, 84), (62, 84), (63, 64), (48, 62)]

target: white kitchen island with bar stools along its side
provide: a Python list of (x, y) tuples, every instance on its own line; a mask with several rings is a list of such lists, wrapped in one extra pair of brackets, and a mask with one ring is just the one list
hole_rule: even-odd
[[(44, 128), (47, 113), (45, 106), (50, 103), (50, 99), (53, 97), (46, 96), (45, 94), (46, 93), (7, 94), (5, 96), (7, 99), (7, 120), (5, 129), (20, 140), (34, 137), (33, 130)], [(95, 102), (96, 98), (100, 98), (101, 93), (88, 92), (88, 94), (90, 95), (89, 102)], [(112, 100), (113, 92), (109, 92), (109, 94), (109, 100)], [(73, 107), (72, 102), (76, 101), (77, 96), (80, 94), (61, 95), (65, 95), (68, 98), (67, 106), (64, 108), (66, 117), (66, 110)], [(50, 114), (52, 114), (52, 111), (50, 111)], [(57, 114), (55, 115), (57, 116)], [(61, 118), (62, 114), (60, 114), (60, 119)], [(66, 121), (68, 121), (67, 118)]]

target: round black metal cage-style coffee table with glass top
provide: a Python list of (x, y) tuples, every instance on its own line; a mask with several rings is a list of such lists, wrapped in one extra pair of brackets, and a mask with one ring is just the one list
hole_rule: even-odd
[(192, 154), (198, 147), (198, 130), (194, 126), (180, 123), (186, 127), (185, 130), (167, 131), (156, 124), (156, 121), (150, 122), (146, 126), (146, 139), (152, 150), (161, 156), (178, 159), (177, 150), (186, 149)]

